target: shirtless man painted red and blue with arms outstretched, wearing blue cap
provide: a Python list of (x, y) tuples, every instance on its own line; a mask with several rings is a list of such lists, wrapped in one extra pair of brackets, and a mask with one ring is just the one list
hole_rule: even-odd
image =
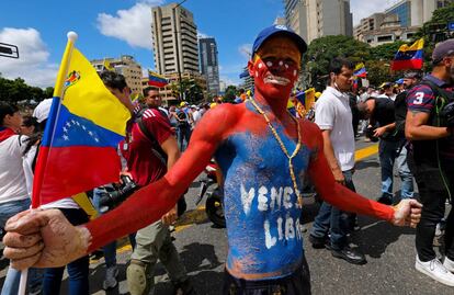
[[(305, 50), (305, 42), (288, 29), (263, 30), (248, 64), (256, 82), (253, 100), (207, 112), (188, 150), (162, 179), (99, 219), (72, 227), (54, 211), (25, 212), (11, 218), (4, 254), (18, 269), (59, 265), (137, 230), (168, 212), (213, 155), (225, 185), (229, 253), (224, 294), (245, 294), (246, 290), (310, 294), (297, 226), (302, 205), (298, 188), (305, 177), (326, 201), (341, 209), (415, 226), (420, 215), (416, 201), (391, 208), (336, 183), (319, 128), (286, 111)], [(151, 192), (152, 200), (147, 197)], [(106, 224), (112, 227), (105, 228)]]

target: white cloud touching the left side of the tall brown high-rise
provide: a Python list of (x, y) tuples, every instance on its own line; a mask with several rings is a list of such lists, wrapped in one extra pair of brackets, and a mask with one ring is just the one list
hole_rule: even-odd
[(98, 30), (105, 36), (125, 41), (133, 47), (151, 48), (151, 7), (162, 4), (162, 0), (147, 0), (127, 10), (118, 10), (116, 15), (98, 14)]

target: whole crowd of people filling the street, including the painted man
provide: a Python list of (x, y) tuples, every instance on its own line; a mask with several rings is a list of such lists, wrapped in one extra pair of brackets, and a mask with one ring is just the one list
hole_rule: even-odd
[[(127, 178), (140, 190), (106, 212), (102, 197), (111, 185), (95, 188), (90, 195), (99, 216), (91, 219), (71, 197), (26, 211), (50, 100), (23, 118), (16, 106), (1, 102), (0, 163), (8, 169), (0, 173), (0, 227), (7, 231), (3, 253), (11, 259), (2, 294), (16, 294), (19, 270), (25, 268), (31, 268), (29, 294), (59, 294), (65, 265), (69, 294), (89, 294), (89, 253), (101, 247), (103, 287), (112, 288), (118, 274), (115, 240), (125, 235), (133, 246), (126, 270), (130, 294), (149, 293), (158, 260), (174, 294), (196, 294), (170, 226), (185, 211), (189, 185), (213, 157), (224, 175), (229, 246), (222, 294), (310, 294), (299, 227), (306, 179), (324, 200), (309, 232), (314, 248), (364, 264), (360, 249), (349, 246), (356, 214), (416, 227), (416, 269), (454, 286), (452, 212), (444, 220), (443, 262), (433, 250), (435, 229), (454, 189), (454, 112), (446, 111), (454, 104), (454, 39), (435, 47), (431, 73), (408, 71), (399, 88), (384, 83), (353, 89), (354, 65), (333, 58), (327, 88), (305, 112), (308, 120), (287, 110), (306, 49), (286, 27), (260, 32), (248, 63), (254, 91), (240, 91), (235, 104), (218, 100), (163, 106), (155, 88), (146, 88), (144, 100), (133, 103), (124, 77), (102, 72), (105, 87), (133, 117), (118, 156), (123, 182)], [(357, 127), (359, 134), (379, 140), (382, 192), (376, 201), (355, 193)], [(393, 188), (395, 164), (399, 195)]]

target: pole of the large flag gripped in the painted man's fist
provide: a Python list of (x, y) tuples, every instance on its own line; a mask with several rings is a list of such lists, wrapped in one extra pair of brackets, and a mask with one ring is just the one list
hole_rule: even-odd
[[(65, 53), (61, 58), (60, 68), (57, 75), (57, 80), (55, 81), (54, 101), (53, 101), (53, 107), (52, 107), (52, 111), (54, 110), (54, 117), (56, 115), (55, 113), (57, 113), (57, 110), (55, 110), (55, 107), (57, 106), (57, 103), (59, 104), (59, 101), (65, 91), (65, 81), (66, 81), (66, 77), (68, 76), (69, 61), (70, 61), (72, 49), (75, 47), (75, 43), (78, 36), (76, 32), (71, 31), (71, 32), (68, 32), (67, 37), (68, 37), (68, 42), (66, 43), (66, 48), (65, 48)], [(52, 114), (49, 114), (49, 117), (50, 115)], [(54, 131), (52, 131), (52, 133), (54, 133)], [(38, 156), (47, 158), (47, 155), (38, 155)], [(35, 209), (39, 206), (39, 192), (41, 192), (41, 188), (43, 184), (43, 175), (44, 175), (45, 168), (46, 168), (46, 162), (44, 162), (39, 169), (36, 169), (37, 171), (33, 180), (32, 209)], [(18, 295), (25, 295), (27, 276), (29, 276), (29, 269), (25, 269), (21, 272), (21, 281), (19, 283)]]

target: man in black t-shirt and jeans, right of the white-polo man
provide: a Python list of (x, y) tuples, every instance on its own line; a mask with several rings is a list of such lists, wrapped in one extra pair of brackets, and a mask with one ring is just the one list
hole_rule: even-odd
[[(374, 136), (379, 137), (378, 156), (382, 167), (382, 195), (378, 202), (393, 204), (394, 193), (394, 163), (402, 151), (405, 136), (396, 132), (396, 117), (394, 101), (388, 98), (370, 98), (364, 103), (359, 104), (359, 110), (365, 117), (371, 118), (371, 125), (378, 123), (374, 131)], [(408, 166), (399, 166), (399, 177), (401, 180), (400, 197), (408, 198), (413, 196), (413, 177)]]

